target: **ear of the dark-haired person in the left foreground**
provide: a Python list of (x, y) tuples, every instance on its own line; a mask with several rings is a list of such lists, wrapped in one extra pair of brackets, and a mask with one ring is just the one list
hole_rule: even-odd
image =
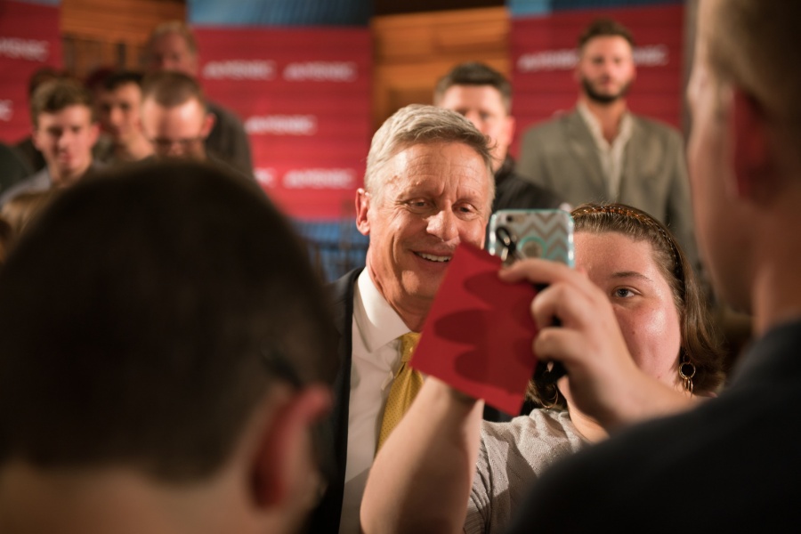
[(263, 511), (303, 510), (312, 506), (320, 481), (311, 429), (331, 408), (331, 394), (310, 385), (276, 404), (251, 464), (254, 503)]

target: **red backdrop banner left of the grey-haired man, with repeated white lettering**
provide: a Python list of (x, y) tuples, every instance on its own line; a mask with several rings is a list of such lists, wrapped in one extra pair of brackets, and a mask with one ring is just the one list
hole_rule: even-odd
[(370, 135), (367, 28), (196, 28), (209, 98), (245, 123), (256, 178), (287, 214), (349, 213)]

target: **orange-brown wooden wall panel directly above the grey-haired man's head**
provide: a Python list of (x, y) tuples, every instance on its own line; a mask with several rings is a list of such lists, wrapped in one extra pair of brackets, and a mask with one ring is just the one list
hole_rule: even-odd
[(510, 72), (509, 15), (504, 7), (387, 15), (371, 21), (373, 120), (433, 101), (437, 80), (462, 61)]

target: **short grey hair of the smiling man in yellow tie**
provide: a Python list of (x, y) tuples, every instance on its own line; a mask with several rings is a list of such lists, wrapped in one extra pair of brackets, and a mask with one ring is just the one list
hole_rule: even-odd
[(495, 198), (495, 180), (492, 178), (492, 156), (487, 138), (473, 123), (455, 111), (422, 104), (410, 104), (398, 109), (373, 135), (364, 175), (365, 189), (373, 195), (380, 194), (384, 186), (379, 176), (381, 169), (401, 150), (416, 144), (437, 142), (460, 142), (481, 157), (490, 176), (491, 206)]

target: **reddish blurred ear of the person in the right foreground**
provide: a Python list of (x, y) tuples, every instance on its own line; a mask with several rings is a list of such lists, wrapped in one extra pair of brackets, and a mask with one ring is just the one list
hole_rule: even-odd
[(736, 87), (730, 96), (735, 193), (761, 205), (781, 189), (774, 172), (770, 125), (765, 109), (753, 96)]

